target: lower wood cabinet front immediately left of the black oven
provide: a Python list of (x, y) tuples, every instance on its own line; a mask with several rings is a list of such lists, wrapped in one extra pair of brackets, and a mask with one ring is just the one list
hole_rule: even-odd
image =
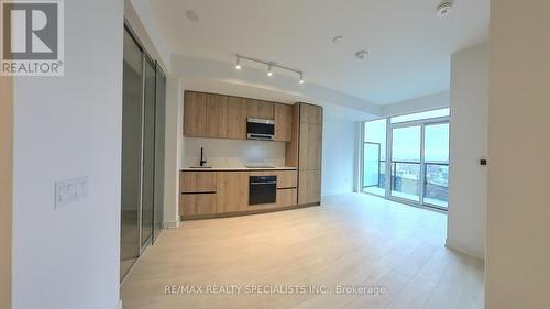
[(249, 206), (249, 174), (242, 172), (218, 173), (218, 213), (246, 210)]

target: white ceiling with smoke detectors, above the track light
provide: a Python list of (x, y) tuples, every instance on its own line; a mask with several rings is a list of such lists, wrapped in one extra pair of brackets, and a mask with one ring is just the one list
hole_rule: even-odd
[[(450, 56), (482, 43), (488, 0), (150, 0), (174, 54), (224, 63), (235, 54), (305, 71), (306, 82), (388, 104), (449, 90)], [(199, 20), (186, 18), (194, 10)], [(339, 44), (332, 37), (342, 35)], [(369, 49), (363, 60), (354, 57)], [(248, 63), (243, 63), (246, 69)], [(285, 74), (274, 69), (275, 76)]]

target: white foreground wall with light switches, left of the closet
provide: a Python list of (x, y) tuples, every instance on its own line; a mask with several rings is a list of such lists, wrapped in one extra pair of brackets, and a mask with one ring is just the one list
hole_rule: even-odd
[[(15, 80), (13, 308), (119, 306), (123, 1), (65, 1), (65, 77)], [(54, 208), (57, 180), (88, 176)]]

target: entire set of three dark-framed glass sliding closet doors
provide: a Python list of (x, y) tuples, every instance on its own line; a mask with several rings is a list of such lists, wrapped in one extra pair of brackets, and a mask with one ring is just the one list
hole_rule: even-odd
[(121, 280), (158, 236), (164, 207), (166, 76), (124, 31)]

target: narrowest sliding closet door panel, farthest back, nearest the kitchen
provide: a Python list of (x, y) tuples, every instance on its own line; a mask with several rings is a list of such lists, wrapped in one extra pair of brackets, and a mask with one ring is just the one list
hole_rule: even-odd
[(155, 211), (153, 220), (156, 239), (163, 225), (164, 210), (164, 147), (166, 125), (166, 76), (156, 66), (156, 115), (155, 115)]

